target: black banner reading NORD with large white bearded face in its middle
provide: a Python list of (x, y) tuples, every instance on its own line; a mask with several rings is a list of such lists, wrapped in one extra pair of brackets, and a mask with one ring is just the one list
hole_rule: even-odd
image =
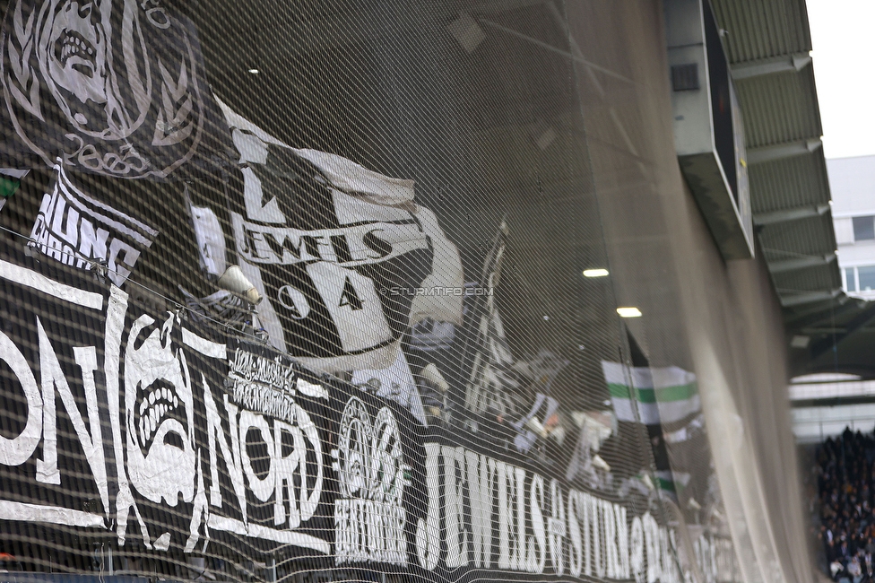
[(0, 308), (0, 427), (15, 436), (0, 436), (0, 532), (328, 556), (342, 492), (351, 505), (379, 496), (405, 540), (403, 460), (418, 439), (402, 407), (64, 265), (4, 254), (0, 293), (22, 300)]

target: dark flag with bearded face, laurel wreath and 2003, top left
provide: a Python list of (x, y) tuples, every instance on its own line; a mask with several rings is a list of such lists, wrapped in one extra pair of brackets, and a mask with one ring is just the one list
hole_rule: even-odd
[(13, 166), (168, 178), (219, 155), (194, 27), (161, 0), (13, 0), (0, 52)]

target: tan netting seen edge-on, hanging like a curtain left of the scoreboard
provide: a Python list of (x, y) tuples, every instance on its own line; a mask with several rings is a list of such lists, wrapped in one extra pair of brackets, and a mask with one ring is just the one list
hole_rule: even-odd
[(745, 579), (809, 581), (781, 309), (761, 257), (723, 261), (681, 177), (660, 3), (567, 11), (584, 57), (628, 77), (577, 67), (618, 304), (644, 313), (628, 327), (652, 365), (697, 373)]

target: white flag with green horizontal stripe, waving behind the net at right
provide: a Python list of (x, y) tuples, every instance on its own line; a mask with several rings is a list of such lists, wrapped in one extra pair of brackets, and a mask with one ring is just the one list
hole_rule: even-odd
[[(680, 422), (702, 409), (696, 375), (688, 370), (628, 368), (608, 361), (602, 361), (602, 370), (619, 421), (645, 425)], [(632, 395), (635, 395), (637, 416)]]

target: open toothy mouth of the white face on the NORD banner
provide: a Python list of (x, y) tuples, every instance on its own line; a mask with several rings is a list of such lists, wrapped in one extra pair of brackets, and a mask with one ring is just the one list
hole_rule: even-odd
[(156, 440), (176, 448), (186, 448), (185, 438), (180, 434), (187, 426), (186, 405), (173, 385), (164, 379), (157, 379), (144, 388), (141, 383), (137, 386), (137, 403), (134, 427), (140, 437), (143, 455)]

